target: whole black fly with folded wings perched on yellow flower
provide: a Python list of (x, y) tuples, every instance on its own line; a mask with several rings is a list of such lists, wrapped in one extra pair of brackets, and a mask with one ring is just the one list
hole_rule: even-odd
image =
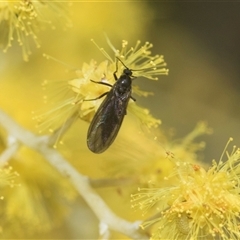
[[(116, 75), (118, 71), (118, 61), (125, 67), (119, 78)], [(123, 118), (127, 114), (126, 109), (129, 99), (131, 98), (136, 101), (136, 99), (131, 96), (132, 79), (134, 78), (132, 70), (126, 67), (119, 58), (117, 58), (116, 71), (113, 73), (113, 76), (116, 80), (114, 85), (91, 80), (94, 83), (111, 87), (109, 92), (105, 92), (96, 98), (99, 99), (107, 95), (98, 108), (88, 129), (87, 145), (94, 153), (104, 152), (113, 143), (122, 125)]]

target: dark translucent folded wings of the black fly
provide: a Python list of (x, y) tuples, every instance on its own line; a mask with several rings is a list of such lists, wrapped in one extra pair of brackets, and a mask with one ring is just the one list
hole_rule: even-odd
[(98, 108), (87, 134), (88, 148), (94, 153), (104, 152), (116, 138), (126, 114), (131, 91), (117, 96), (114, 89)]

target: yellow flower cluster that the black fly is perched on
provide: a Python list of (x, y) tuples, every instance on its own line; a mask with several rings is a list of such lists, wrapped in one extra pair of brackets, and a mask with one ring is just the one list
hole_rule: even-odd
[[(99, 105), (103, 101), (102, 98), (98, 99), (98, 97), (109, 91), (109, 87), (102, 84), (95, 84), (91, 80), (106, 82), (113, 85), (115, 83), (113, 73), (116, 71), (116, 68), (118, 68), (117, 76), (122, 74), (125, 66), (133, 71), (136, 70), (136, 74), (134, 71), (135, 77), (142, 76), (148, 79), (157, 80), (155, 77), (156, 75), (168, 74), (163, 56), (151, 56), (151, 51), (149, 49), (152, 48), (152, 44), (147, 42), (140, 46), (140, 41), (138, 41), (135, 47), (128, 48), (128, 42), (123, 40), (121, 50), (117, 50), (109, 40), (108, 43), (114, 51), (114, 60), (103, 48), (98, 47), (108, 60), (100, 64), (97, 64), (94, 60), (89, 64), (84, 63), (82, 68), (76, 71), (77, 78), (66, 81), (65, 84), (63, 84), (62, 87), (65, 88), (64, 101), (59, 101), (51, 111), (35, 117), (39, 122), (40, 128), (45, 126), (45, 129), (47, 128), (52, 132), (54, 127), (60, 126), (61, 128), (61, 126), (66, 125), (68, 119), (73, 116), (80, 117), (88, 122), (91, 121)], [(125, 66), (117, 61), (115, 57), (119, 57)], [(46, 88), (48, 84), (48, 81), (45, 81), (43, 83), (44, 88)], [(149, 95), (148, 92), (144, 92), (139, 88), (133, 88), (133, 93), (135, 89), (136, 94), (141, 96)], [(89, 99), (94, 100), (84, 101)], [(133, 101), (129, 103), (129, 111), (139, 117), (139, 119), (149, 127), (156, 127), (160, 124), (160, 120), (153, 118), (147, 109), (137, 106)], [(53, 115), (54, 117), (51, 118)], [(61, 122), (59, 122), (59, 119), (61, 119)]]

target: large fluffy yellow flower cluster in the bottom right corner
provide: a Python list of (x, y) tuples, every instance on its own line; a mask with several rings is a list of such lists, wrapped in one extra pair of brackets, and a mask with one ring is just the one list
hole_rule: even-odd
[(174, 178), (174, 185), (142, 188), (133, 195), (143, 213), (157, 213), (142, 224), (154, 225), (152, 239), (240, 238), (240, 149), (225, 153), (227, 160), (223, 162), (222, 156), (208, 170), (174, 161), (175, 171), (165, 179)]

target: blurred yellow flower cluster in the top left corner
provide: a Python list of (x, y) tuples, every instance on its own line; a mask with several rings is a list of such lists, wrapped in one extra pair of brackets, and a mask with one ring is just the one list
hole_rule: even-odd
[(0, 2), (0, 46), (3, 46), (4, 52), (12, 46), (12, 41), (16, 38), (22, 47), (24, 60), (28, 61), (31, 54), (29, 36), (39, 48), (37, 31), (41, 25), (46, 23), (52, 25), (47, 16), (47, 12), (52, 10), (66, 18), (65, 7), (60, 2), (48, 1), (47, 4), (40, 0)]

